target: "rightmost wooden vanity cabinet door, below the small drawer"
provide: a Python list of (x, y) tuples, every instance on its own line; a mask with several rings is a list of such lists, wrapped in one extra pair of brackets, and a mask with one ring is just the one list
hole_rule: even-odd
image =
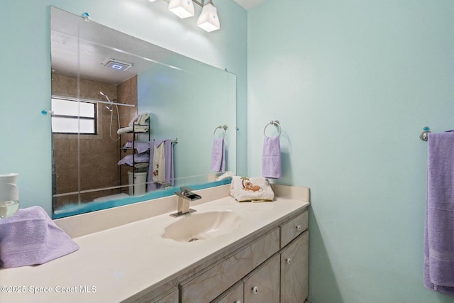
[(308, 292), (309, 231), (281, 250), (281, 303), (304, 302)]

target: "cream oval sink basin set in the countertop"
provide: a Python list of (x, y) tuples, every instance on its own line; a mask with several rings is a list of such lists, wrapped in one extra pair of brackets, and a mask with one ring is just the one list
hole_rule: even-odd
[(162, 238), (193, 242), (230, 233), (243, 222), (243, 217), (231, 210), (195, 212), (184, 216), (164, 230)]

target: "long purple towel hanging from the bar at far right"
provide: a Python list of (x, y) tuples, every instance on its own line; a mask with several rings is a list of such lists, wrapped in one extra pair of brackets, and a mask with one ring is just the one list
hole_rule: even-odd
[(424, 285), (454, 296), (454, 133), (429, 133)]

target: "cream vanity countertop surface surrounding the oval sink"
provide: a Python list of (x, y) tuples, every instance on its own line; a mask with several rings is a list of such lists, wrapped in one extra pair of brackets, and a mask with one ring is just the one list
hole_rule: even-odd
[(0, 301), (121, 302), (138, 297), (309, 205), (309, 194), (307, 199), (283, 196), (264, 203), (223, 197), (192, 206), (198, 213), (231, 209), (243, 216), (240, 227), (209, 240), (162, 238), (165, 226), (179, 220), (169, 216), (175, 210), (76, 237), (80, 248), (70, 255), (43, 265), (0, 269)]

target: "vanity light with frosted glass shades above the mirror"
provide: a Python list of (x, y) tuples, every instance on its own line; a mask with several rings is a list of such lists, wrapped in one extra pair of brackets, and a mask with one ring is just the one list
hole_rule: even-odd
[[(156, 0), (148, 0), (154, 2)], [(169, 11), (175, 13), (179, 18), (188, 18), (194, 16), (194, 3), (201, 6), (201, 13), (197, 19), (197, 26), (207, 32), (216, 31), (221, 28), (218, 18), (218, 10), (213, 5), (212, 0), (164, 0), (169, 3)]]

